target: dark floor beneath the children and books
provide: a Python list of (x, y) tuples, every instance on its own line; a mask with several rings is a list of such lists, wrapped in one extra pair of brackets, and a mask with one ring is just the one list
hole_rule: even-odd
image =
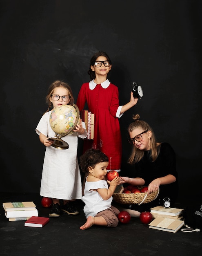
[[(33, 201), (39, 216), (48, 216), (49, 209), (41, 206), (38, 194), (0, 193), (0, 255), (193, 256), (202, 253), (202, 232), (149, 229), (139, 218), (116, 228), (93, 226), (80, 230), (85, 222), (81, 201), (78, 201), (78, 216), (62, 214), (60, 218), (51, 218), (43, 228), (24, 227), (24, 221), (9, 222), (2, 207), (3, 202), (18, 201)], [(175, 207), (184, 209), (183, 203)]]

